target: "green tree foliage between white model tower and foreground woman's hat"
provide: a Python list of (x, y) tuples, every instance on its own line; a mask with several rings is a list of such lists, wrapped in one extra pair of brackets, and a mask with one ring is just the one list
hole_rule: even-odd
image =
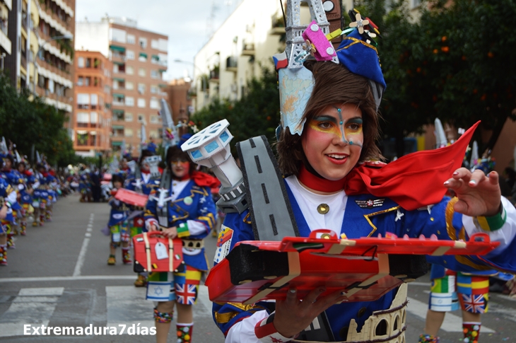
[(247, 83), (247, 91), (237, 101), (214, 99), (192, 117), (199, 129), (226, 119), (234, 141), (265, 135), (269, 143), (275, 140), (279, 119), (279, 92), (276, 72), (262, 69), (262, 78)]

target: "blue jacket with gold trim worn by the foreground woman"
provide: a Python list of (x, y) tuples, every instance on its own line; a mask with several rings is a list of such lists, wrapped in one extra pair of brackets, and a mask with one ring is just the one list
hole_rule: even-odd
[[(287, 182), (285, 183), (300, 236), (307, 237), (310, 234), (310, 228), (293, 196), (292, 190)], [(435, 234), (440, 240), (468, 239), (468, 235), (462, 225), (462, 214), (455, 213), (453, 210), (453, 205), (457, 198), (450, 200), (450, 198), (445, 197), (431, 208), (430, 213), (426, 207), (422, 210), (406, 211), (390, 199), (382, 199), (382, 205), (378, 207), (364, 208), (358, 205), (359, 203), (364, 204), (371, 199), (375, 200), (377, 197), (370, 194), (348, 196), (340, 233), (345, 233), (347, 238), (377, 236), (378, 234), (382, 234), (385, 237), (385, 233), (394, 233), (398, 237), (403, 237), (407, 234), (410, 238), (417, 238), (421, 234), (426, 237)], [(398, 211), (403, 216), (397, 216)], [(230, 240), (230, 249), (233, 249), (235, 243), (242, 240), (254, 240), (252, 226), (247, 222), (248, 213), (246, 210), (242, 214), (228, 214), (225, 217), (224, 226), (233, 231), (231, 233), (233, 236)], [(515, 245), (516, 242), (514, 240), (510, 242), (507, 246), (507, 251), (515, 251)], [(222, 249), (217, 250), (216, 257), (220, 253), (222, 253)], [(440, 257), (429, 256), (428, 260), (461, 272), (478, 272), (478, 270), (491, 269), (486, 264), (491, 264), (501, 269), (508, 269), (512, 272), (516, 271), (516, 255), (500, 254), (499, 251), (491, 252), (483, 258), (448, 255)], [(356, 320), (358, 331), (360, 331), (365, 320), (373, 314), (373, 311), (389, 308), (396, 294), (397, 289), (394, 289), (377, 301), (341, 303), (330, 307), (326, 313), (336, 341), (346, 340), (347, 337), (342, 337), (342, 335), (344, 335), (344, 332), (347, 332), (344, 328), (349, 327), (352, 319)], [(273, 309), (274, 303), (271, 305), (270, 302), (255, 303), (254, 306), (242, 306), (242, 304), (235, 303), (213, 303), (213, 319), (224, 335), (226, 335), (230, 328), (243, 318), (250, 317), (259, 310), (267, 310), (270, 313)]]

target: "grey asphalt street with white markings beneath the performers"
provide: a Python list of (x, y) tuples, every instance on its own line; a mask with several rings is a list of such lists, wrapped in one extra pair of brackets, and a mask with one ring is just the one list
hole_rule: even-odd
[[(153, 303), (145, 300), (144, 289), (133, 286), (136, 274), (131, 265), (122, 264), (119, 249), (117, 265), (107, 265), (110, 238), (100, 229), (108, 217), (107, 204), (80, 203), (72, 194), (54, 205), (52, 222), (30, 226), (27, 236), (16, 237), (16, 249), (8, 250), (8, 266), (0, 267), (0, 341), (156, 342), (151, 335), (128, 335), (153, 326)], [(215, 238), (206, 238), (210, 261), (215, 243)], [(428, 276), (409, 285), (406, 342), (417, 342), (423, 332), (429, 289)], [(516, 342), (515, 299), (491, 294), (482, 321), (481, 342)], [(200, 287), (194, 322), (194, 342), (224, 341), (211, 318), (206, 286)], [(459, 312), (447, 313), (442, 343), (462, 341), (461, 322)], [(24, 335), (24, 325), (117, 327), (117, 335), (109, 335), (109, 330), (106, 335)], [(176, 342), (172, 336), (169, 342)]]

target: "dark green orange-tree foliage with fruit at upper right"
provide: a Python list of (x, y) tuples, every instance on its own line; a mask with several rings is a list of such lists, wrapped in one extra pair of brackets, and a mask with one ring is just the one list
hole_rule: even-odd
[(515, 1), (429, 0), (414, 23), (406, 2), (389, 1), (389, 11), (385, 0), (357, 4), (382, 33), (382, 132), (401, 149), (404, 136), (435, 117), (465, 128), (482, 120), (493, 129), (492, 148), (505, 120), (516, 120)]

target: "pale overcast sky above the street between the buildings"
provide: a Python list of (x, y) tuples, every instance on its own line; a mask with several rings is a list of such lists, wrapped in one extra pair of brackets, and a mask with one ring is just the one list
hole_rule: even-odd
[[(257, 0), (259, 1), (259, 0)], [(127, 17), (138, 21), (138, 28), (168, 35), (168, 72), (166, 79), (192, 76), (194, 55), (209, 38), (210, 22), (216, 30), (242, 0), (76, 0), (76, 21), (100, 21)], [(213, 11), (213, 7), (215, 11)], [(213, 13), (213, 20), (211, 16)]]

